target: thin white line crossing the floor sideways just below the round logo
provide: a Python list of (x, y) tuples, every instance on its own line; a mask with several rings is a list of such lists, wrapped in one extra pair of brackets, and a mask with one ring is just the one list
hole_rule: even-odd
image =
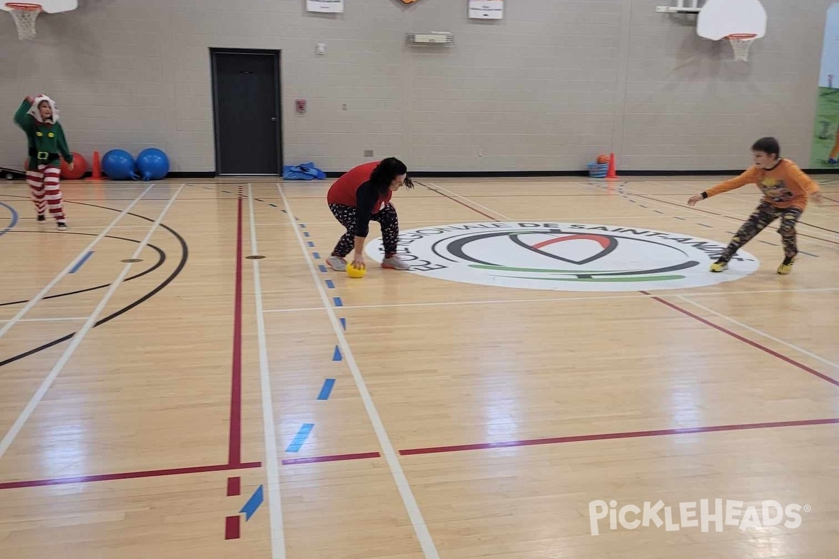
[[(708, 292), (688, 293), (684, 297), (719, 297), (725, 295), (753, 295), (756, 293), (804, 293), (804, 292), (833, 292), (839, 291), (839, 287), (814, 287), (803, 289), (753, 289), (750, 291), (729, 291), (729, 292)], [(504, 303), (564, 303), (574, 301), (602, 301), (607, 299), (649, 299), (649, 298), (678, 298), (682, 295), (650, 293), (644, 295), (637, 293), (633, 295), (602, 295), (591, 297), (542, 297), (542, 298), (521, 298), (521, 299), (484, 299), (476, 301), (431, 301), (425, 303), (377, 303), (371, 305), (344, 305), (344, 308), (400, 308), (400, 307), (456, 307), (462, 305), (492, 305)], [(321, 311), (322, 307), (304, 308), (269, 308), (263, 313), (303, 313), (306, 311)]]

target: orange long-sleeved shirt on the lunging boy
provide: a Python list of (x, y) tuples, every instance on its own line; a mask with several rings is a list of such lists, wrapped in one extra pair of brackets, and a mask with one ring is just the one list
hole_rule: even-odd
[(729, 190), (739, 189), (746, 184), (756, 184), (763, 192), (763, 199), (780, 209), (805, 210), (810, 194), (816, 194), (819, 191), (819, 185), (810, 179), (798, 165), (789, 159), (781, 159), (780, 163), (771, 170), (753, 166), (739, 177), (707, 189), (705, 194), (711, 198)]

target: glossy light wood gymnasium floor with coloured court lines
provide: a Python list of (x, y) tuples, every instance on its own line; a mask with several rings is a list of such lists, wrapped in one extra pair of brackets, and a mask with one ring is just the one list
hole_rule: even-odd
[[(633, 276), (729, 241), (759, 194), (685, 205), (717, 179), (420, 179), (394, 203), (442, 260), (362, 279), (323, 267), (328, 182), (65, 183), (64, 233), (0, 184), (0, 556), (835, 556), (839, 180), (789, 276), (777, 223)], [(504, 228), (534, 241), (457, 236)]]

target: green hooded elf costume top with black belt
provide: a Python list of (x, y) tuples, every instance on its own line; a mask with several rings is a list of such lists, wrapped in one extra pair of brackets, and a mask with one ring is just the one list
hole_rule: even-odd
[[(41, 115), (41, 103), (50, 107), (50, 115)], [(18, 111), (14, 113), (14, 122), (26, 132), (29, 141), (29, 165), (27, 170), (34, 171), (39, 165), (60, 166), (60, 158), (67, 163), (73, 163), (73, 153), (67, 147), (64, 128), (58, 122), (59, 111), (55, 101), (45, 95), (23, 100)]]

